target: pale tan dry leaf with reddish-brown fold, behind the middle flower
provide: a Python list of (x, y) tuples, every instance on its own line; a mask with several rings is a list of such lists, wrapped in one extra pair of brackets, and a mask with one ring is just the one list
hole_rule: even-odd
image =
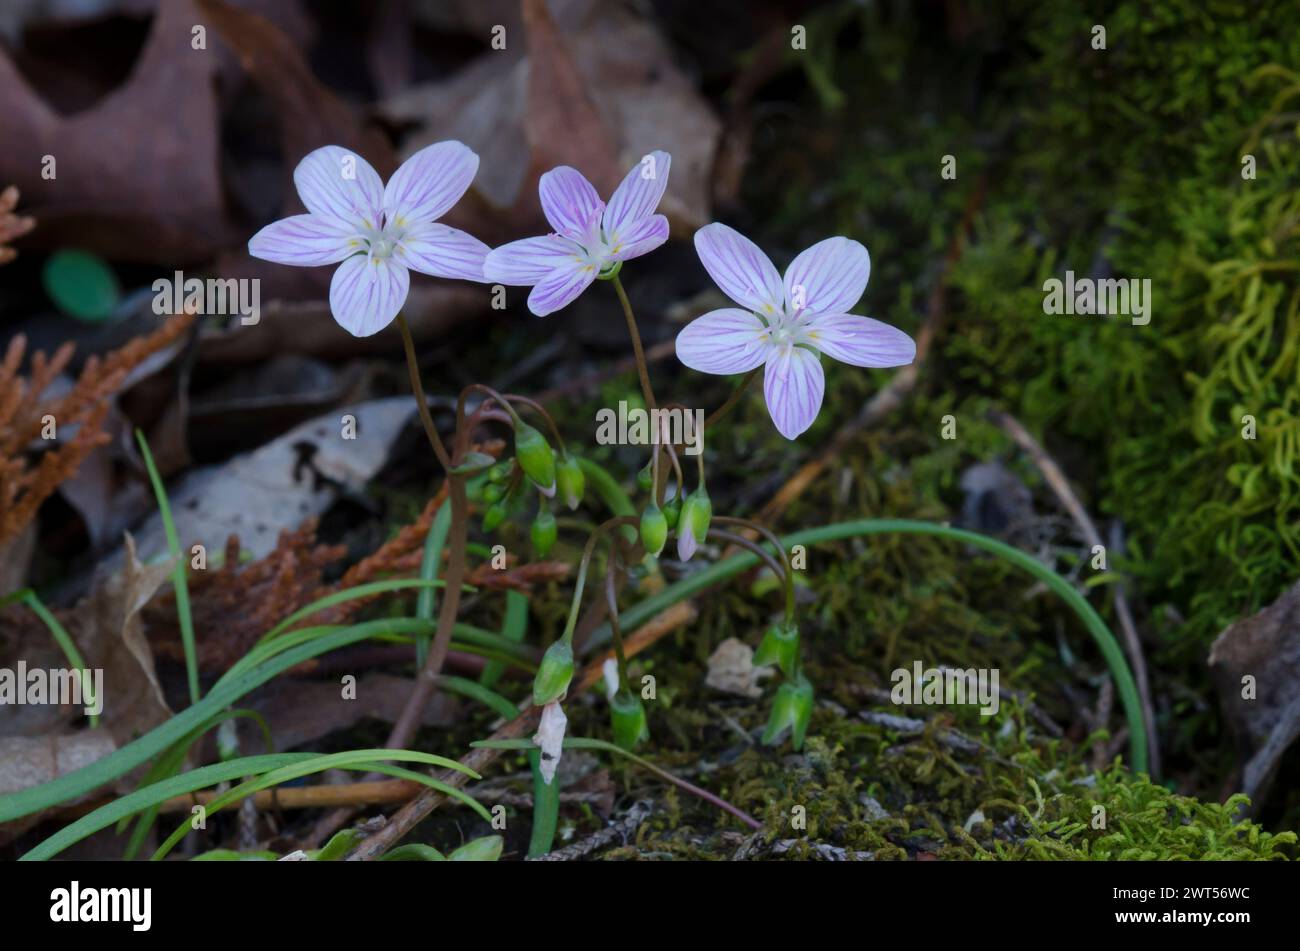
[(424, 126), (403, 156), (448, 138), (478, 152), (473, 192), (495, 209), (481, 233), (507, 239), (542, 222), (536, 183), (552, 165), (573, 165), (608, 196), (641, 156), (662, 148), (672, 174), (660, 210), (679, 234), (706, 223), (722, 126), (656, 29), (621, 5), (590, 0), (549, 12), (529, 0), (524, 21), (526, 56), (515, 52), (507, 25), (506, 51), (380, 105), (393, 122)]

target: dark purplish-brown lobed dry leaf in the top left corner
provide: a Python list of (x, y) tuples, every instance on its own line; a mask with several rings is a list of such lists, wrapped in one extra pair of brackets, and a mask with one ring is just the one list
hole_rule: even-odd
[(191, 47), (199, 22), (190, 0), (161, 4), (127, 81), (68, 117), (0, 51), (0, 181), (22, 190), (39, 244), (181, 264), (235, 240), (217, 169), (216, 57)]

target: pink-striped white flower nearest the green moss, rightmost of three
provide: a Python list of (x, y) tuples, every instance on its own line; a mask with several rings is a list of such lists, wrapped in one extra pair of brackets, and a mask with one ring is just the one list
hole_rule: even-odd
[(740, 304), (697, 317), (677, 334), (677, 359), (701, 373), (763, 366), (763, 394), (777, 431), (794, 439), (816, 418), (826, 379), (820, 355), (853, 366), (904, 366), (916, 356), (907, 334), (849, 309), (871, 277), (871, 256), (849, 238), (827, 238), (776, 272), (754, 242), (714, 222), (696, 251), (723, 292)]

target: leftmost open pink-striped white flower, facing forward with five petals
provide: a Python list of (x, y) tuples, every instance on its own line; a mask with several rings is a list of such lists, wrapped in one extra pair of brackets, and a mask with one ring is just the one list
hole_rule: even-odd
[(248, 253), (302, 268), (339, 264), (329, 288), (334, 320), (354, 336), (377, 334), (406, 303), (410, 272), (484, 279), (488, 246), (437, 222), (477, 170), (468, 146), (438, 142), (402, 162), (385, 186), (361, 156), (317, 148), (294, 169), (307, 214), (266, 225), (248, 240)]

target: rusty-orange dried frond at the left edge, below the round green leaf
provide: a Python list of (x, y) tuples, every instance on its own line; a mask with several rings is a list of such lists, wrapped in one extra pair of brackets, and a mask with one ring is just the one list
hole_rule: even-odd
[[(22, 335), (9, 342), (0, 361), (0, 542), (18, 534), (82, 461), (108, 442), (103, 426), (110, 398), (131, 370), (179, 338), (191, 323), (191, 317), (173, 317), (104, 359), (91, 357), (73, 387), (51, 399), (43, 395), (72, 360), (73, 344), (65, 343), (53, 356), (32, 353), (31, 369), (23, 378), (18, 368), (27, 342)], [(73, 431), (73, 435), (32, 463), (29, 447), (43, 435), (48, 422), (53, 422), (55, 431)]]

